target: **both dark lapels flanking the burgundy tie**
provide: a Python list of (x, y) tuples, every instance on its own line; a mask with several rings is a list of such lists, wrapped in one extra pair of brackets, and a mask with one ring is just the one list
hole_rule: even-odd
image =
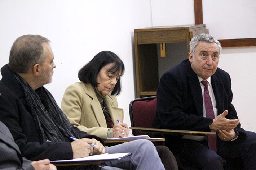
[[(200, 86), (200, 82), (198, 81), (197, 74), (191, 68), (190, 61), (188, 60), (185, 64), (187, 70), (187, 77), (189, 79), (191, 95), (193, 97), (195, 107), (197, 109), (198, 115), (203, 116), (203, 95)], [(223, 96), (224, 96), (224, 84), (221, 82), (221, 78), (217, 74), (218, 68), (216, 72), (211, 76), (211, 84), (213, 93), (216, 99), (217, 108), (219, 111), (223, 110)], [(218, 111), (218, 112), (219, 112)], [(218, 113), (219, 114), (219, 113)]]

